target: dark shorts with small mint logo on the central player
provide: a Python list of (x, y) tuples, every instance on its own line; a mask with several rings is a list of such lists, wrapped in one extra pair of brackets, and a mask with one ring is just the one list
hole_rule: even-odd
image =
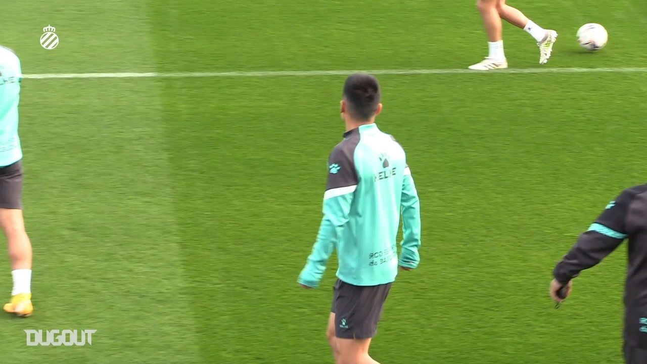
[(342, 280), (334, 284), (334, 332), (340, 339), (369, 339), (377, 334), (391, 283), (354, 286)]

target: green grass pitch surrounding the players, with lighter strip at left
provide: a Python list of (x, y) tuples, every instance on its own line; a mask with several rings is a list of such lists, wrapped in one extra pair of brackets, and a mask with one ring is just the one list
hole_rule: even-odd
[[(639, 0), (510, 1), (560, 33), (538, 65), (644, 67)], [(52, 0), (3, 4), (25, 74), (462, 69), (487, 51), (469, 1)], [(606, 49), (580, 51), (601, 23)], [(60, 45), (39, 45), (56, 27)], [(646, 73), (379, 76), (382, 130), (422, 201), (422, 264), (402, 273), (381, 363), (620, 363), (624, 247), (554, 310), (554, 263), (624, 187), (644, 182)], [(1, 363), (332, 363), (336, 260), (296, 277), (340, 141), (344, 76), (26, 79), (25, 215), (34, 304), (0, 316)], [(8, 299), (8, 260), (0, 256)], [(98, 330), (27, 347), (24, 329)]]

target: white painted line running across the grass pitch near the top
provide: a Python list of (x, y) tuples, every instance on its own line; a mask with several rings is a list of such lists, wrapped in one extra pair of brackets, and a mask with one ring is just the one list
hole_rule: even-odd
[(52, 78), (192, 78), (192, 77), (274, 77), (274, 76), (345, 76), (356, 72), (371, 74), (519, 74), (519, 73), (647, 73), (647, 67), (617, 68), (519, 68), (497, 71), (470, 69), (377, 69), (373, 71), (236, 71), (236, 72), (179, 72), (179, 73), (42, 73), (25, 74), (28, 79)]

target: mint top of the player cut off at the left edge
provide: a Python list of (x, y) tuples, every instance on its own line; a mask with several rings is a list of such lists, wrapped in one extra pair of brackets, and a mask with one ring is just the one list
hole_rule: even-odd
[(0, 46), (0, 166), (22, 158), (18, 138), (18, 102), (22, 78), (16, 54)]

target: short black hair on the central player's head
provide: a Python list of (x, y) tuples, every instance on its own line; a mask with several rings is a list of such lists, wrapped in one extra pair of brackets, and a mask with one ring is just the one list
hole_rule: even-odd
[(380, 84), (371, 74), (355, 73), (346, 78), (344, 99), (352, 117), (369, 120), (380, 104)]

